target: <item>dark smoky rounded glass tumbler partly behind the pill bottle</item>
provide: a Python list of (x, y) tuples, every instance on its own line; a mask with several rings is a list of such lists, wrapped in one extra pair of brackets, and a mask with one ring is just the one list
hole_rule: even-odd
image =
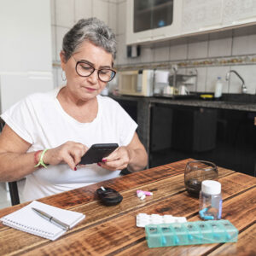
[(189, 195), (199, 197), (201, 182), (207, 179), (218, 181), (218, 168), (215, 164), (205, 160), (194, 160), (187, 163), (184, 183)]

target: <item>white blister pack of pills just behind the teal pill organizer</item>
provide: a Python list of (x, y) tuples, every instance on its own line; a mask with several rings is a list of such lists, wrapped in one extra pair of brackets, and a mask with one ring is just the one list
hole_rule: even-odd
[(145, 227), (148, 224), (171, 224), (171, 223), (183, 223), (186, 222), (185, 217), (174, 217), (172, 215), (159, 215), (159, 214), (137, 214), (137, 227)]

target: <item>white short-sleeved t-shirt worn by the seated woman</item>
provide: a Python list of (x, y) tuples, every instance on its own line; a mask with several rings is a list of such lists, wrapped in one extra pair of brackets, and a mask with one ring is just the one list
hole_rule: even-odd
[[(88, 148), (95, 143), (118, 143), (119, 146), (131, 143), (137, 124), (118, 102), (97, 96), (96, 119), (91, 123), (80, 123), (61, 108), (56, 98), (60, 89), (27, 96), (1, 115), (13, 131), (32, 144), (27, 152), (55, 148), (67, 141), (83, 143)], [(119, 172), (108, 171), (96, 164), (77, 171), (67, 164), (40, 168), (26, 177), (22, 200), (32, 201), (118, 177)]]

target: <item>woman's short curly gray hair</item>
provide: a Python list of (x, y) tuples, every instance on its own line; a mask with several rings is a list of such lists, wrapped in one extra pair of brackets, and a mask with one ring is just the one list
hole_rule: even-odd
[(108, 53), (112, 54), (113, 59), (115, 59), (115, 34), (102, 20), (89, 18), (79, 20), (64, 36), (62, 51), (66, 61), (68, 61), (84, 40), (88, 40), (92, 44), (102, 47)]

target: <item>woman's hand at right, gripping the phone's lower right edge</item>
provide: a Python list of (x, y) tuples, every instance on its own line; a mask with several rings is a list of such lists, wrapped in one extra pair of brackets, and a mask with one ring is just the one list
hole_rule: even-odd
[(108, 157), (102, 159), (102, 162), (98, 163), (104, 169), (109, 171), (116, 171), (125, 169), (131, 160), (131, 150), (127, 147), (119, 147), (109, 154)]

